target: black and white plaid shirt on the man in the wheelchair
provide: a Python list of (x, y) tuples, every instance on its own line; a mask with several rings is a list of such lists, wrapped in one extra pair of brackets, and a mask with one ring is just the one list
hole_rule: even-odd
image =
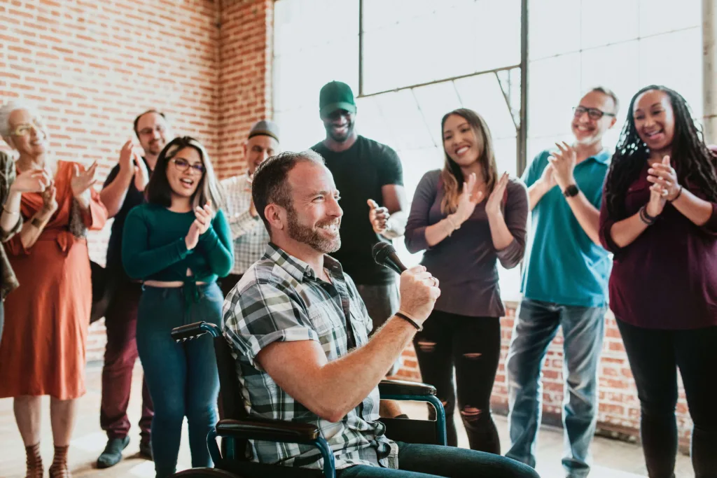
[[(325, 256), (324, 266), (331, 283), (318, 279), (305, 262), (268, 244), (264, 257), (229, 292), (223, 309), (224, 336), (237, 361), (244, 407), (250, 416), (318, 426), (337, 469), (357, 464), (397, 468), (398, 447), (386, 438), (379, 422), (378, 386), (341, 421), (331, 423), (295, 401), (255, 360), (270, 343), (291, 340), (315, 340), (328, 360), (336, 360), (349, 349), (346, 315), (356, 346), (369, 341), (372, 323), (356, 286), (335, 259)], [(257, 462), (323, 467), (318, 449), (310, 445), (252, 441), (251, 448)]]

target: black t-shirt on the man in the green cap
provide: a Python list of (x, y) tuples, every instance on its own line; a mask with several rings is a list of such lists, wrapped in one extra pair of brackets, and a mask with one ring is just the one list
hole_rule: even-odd
[(331, 254), (353, 282), (359, 285), (381, 285), (393, 282), (396, 273), (374, 262), (371, 250), (379, 241), (390, 242), (374, 232), (369, 222), (369, 205), (373, 199), (384, 206), (381, 186), (403, 186), (401, 160), (388, 146), (359, 136), (351, 148), (341, 153), (326, 148), (323, 143), (313, 145), (333, 174), (341, 193), (341, 249)]

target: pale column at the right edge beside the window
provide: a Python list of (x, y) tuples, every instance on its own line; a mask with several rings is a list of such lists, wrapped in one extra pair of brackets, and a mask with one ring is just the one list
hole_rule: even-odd
[(702, 98), (705, 140), (717, 143), (717, 0), (702, 0)]

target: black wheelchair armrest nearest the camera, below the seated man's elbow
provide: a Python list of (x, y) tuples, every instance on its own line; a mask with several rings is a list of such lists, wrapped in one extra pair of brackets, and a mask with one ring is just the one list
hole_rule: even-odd
[(319, 438), (319, 429), (311, 424), (295, 424), (283, 420), (224, 419), (217, 423), (217, 435), (244, 440), (310, 443)]

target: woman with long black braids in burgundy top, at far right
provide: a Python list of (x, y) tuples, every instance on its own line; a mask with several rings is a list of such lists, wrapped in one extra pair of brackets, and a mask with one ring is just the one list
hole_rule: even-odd
[(682, 96), (655, 85), (637, 92), (605, 181), (600, 236), (614, 253), (610, 306), (651, 478), (675, 476), (678, 368), (695, 478), (717, 476), (716, 167)]

